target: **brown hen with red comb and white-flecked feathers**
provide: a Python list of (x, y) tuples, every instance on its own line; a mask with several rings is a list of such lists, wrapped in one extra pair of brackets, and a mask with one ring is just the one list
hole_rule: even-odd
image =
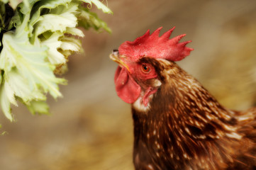
[(135, 169), (256, 169), (256, 108), (231, 111), (175, 61), (190, 54), (184, 35), (161, 28), (110, 55), (116, 92), (131, 103)]

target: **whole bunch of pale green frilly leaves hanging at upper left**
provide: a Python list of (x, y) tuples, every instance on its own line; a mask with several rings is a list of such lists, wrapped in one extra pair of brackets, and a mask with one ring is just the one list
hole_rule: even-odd
[(67, 81), (55, 77), (54, 72), (56, 68), (67, 68), (67, 57), (72, 52), (82, 52), (77, 37), (84, 34), (77, 26), (111, 31), (96, 13), (89, 11), (88, 4), (94, 4), (104, 13), (112, 12), (98, 0), (26, 0), (18, 6), (14, 0), (9, 2), (16, 10), (9, 26), (0, 28), (4, 31), (0, 53), (0, 106), (6, 118), (13, 121), (11, 104), (18, 106), (17, 100), (33, 114), (47, 114), (45, 95), (62, 96), (58, 85)]

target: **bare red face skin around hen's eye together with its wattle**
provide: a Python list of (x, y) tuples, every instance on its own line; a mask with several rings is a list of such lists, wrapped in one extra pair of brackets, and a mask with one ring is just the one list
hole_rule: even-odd
[(134, 103), (141, 96), (143, 104), (147, 106), (149, 96), (157, 91), (153, 86), (147, 84), (148, 79), (157, 78), (155, 68), (148, 63), (122, 59), (126, 67), (119, 66), (114, 78), (118, 96), (126, 103)]

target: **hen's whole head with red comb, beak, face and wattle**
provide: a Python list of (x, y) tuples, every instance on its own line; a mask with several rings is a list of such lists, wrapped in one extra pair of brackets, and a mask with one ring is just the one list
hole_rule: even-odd
[(161, 28), (150, 35), (148, 30), (133, 42), (126, 41), (118, 50), (113, 50), (111, 59), (119, 64), (115, 74), (116, 92), (126, 103), (138, 101), (148, 106), (150, 97), (161, 86), (163, 79), (160, 60), (169, 61), (172, 67), (175, 61), (182, 60), (190, 54), (192, 48), (186, 42), (179, 42), (185, 36), (178, 35), (169, 39), (174, 28), (159, 37)]

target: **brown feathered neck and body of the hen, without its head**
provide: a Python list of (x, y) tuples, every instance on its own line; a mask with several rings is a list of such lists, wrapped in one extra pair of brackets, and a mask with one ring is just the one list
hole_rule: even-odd
[(135, 169), (256, 169), (256, 108), (231, 111), (174, 62), (144, 60), (162, 85), (132, 105)]

